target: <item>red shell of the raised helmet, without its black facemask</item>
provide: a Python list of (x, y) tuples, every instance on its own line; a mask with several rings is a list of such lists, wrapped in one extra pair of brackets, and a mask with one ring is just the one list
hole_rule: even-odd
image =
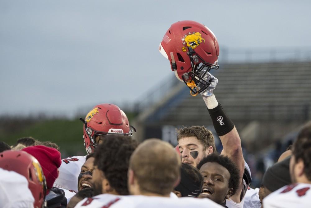
[[(170, 53), (173, 53), (177, 74), (181, 81), (182, 75), (192, 70), (187, 54), (188, 47), (191, 47), (196, 54), (209, 64), (217, 63), (219, 56), (218, 41), (207, 26), (196, 21), (178, 21), (172, 24), (165, 33), (159, 50), (161, 54), (169, 59), (170, 63), (172, 63)], [(199, 60), (199, 63), (201, 62), (202, 60)], [(172, 64), (171, 69), (174, 70)]]

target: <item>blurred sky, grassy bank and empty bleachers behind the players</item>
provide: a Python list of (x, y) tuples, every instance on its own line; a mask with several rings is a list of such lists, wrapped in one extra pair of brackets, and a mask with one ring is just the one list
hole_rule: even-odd
[(239, 130), (251, 187), (259, 187), (310, 120), (310, 4), (1, 0), (0, 140), (32, 136), (58, 144), (62, 158), (84, 155), (79, 117), (98, 103), (120, 106), (139, 141), (176, 145), (183, 125), (213, 131), (202, 100), (157, 50), (173, 22), (194, 20), (220, 44), (215, 94)]

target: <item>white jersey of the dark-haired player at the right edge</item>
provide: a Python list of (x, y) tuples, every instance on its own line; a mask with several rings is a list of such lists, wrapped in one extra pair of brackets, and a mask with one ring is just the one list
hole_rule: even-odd
[(311, 207), (311, 184), (293, 183), (284, 186), (263, 199), (263, 207)]

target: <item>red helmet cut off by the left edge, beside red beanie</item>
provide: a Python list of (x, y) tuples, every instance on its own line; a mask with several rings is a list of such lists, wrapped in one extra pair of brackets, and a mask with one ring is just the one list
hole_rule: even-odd
[(35, 198), (34, 207), (45, 207), (46, 182), (38, 160), (25, 151), (6, 150), (0, 153), (0, 168), (26, 177), (28, 188)]

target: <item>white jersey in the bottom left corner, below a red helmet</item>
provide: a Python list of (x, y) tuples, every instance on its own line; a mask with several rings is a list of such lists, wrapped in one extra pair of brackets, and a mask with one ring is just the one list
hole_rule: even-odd
[(35, 199), (28, 188), (26, 177), (0, 168), (0, 207), (34, 207)]

